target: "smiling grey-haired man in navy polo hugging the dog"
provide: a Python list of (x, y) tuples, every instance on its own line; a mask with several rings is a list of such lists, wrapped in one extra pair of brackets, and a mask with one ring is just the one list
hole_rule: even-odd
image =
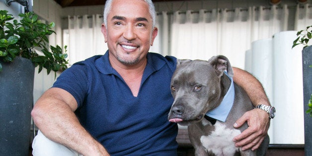
[[(148, 53), (157, 35), (152, 0), (107, 0), (102, 33), (108, 52), (73, 65), (36, 102), (32, 116), (44, 136), (36, 137), (34, 155), (64, 147), (83, 156), (176, 155), (177, 125), (167, 121), (176, 59)], [(255, 78), (239, 69), (234, 74), (254, 105), (269, 105)], [(254, 109), (234, 126), (246, 121), (250, 127), (235, 145), (255, 150), (269, 117)], [(42, 150), (41, 142), (54, 148)]]

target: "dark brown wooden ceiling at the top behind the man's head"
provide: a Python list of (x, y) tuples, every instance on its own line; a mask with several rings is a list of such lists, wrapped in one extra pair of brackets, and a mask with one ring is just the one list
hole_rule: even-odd
[[(86, 6), (86, 5), (104, 5), (105, 0), (54, 0), (62, 7), (67, 6)], [(157, 1), (175, 1), (175, 0), (152, 0), (153, 2)]]

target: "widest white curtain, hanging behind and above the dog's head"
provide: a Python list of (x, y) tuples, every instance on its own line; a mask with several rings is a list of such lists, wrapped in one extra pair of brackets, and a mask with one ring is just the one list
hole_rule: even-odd
[(176, 11), (171, 25), (171, 55), (208, 60), (221, 54), (233, 66), (244, 69), (245, 51), (250, 43), (286, 30), (287, 19), (287, 5)]

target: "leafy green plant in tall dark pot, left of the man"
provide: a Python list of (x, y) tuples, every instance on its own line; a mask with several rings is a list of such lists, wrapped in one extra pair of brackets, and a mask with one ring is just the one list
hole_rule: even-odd
[[(41, 23), (33, 12), (14, 19), (0, 10), (0, 153), (5, 156), (28, 155), (34, 69), (47, 74), (67, 69), (68, 60), (60, 46), (49, 46), (55, 33), (50, 24)], [(56, 73), (55, 73), (56, 77)]]

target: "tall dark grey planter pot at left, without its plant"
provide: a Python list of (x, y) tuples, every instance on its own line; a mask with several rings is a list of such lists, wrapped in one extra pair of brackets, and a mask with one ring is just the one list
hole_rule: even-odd
[(17, 57), (0, 72), (0, 155), (28, 156), (34, 65)]

